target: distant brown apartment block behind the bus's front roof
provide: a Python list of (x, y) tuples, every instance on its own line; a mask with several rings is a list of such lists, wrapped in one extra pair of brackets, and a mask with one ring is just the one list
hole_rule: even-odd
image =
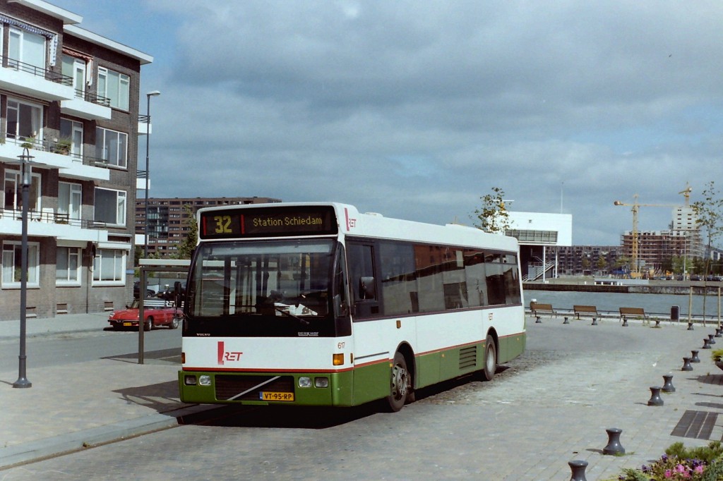
[[(188, 212), (195, 215), (201, 207), (218, 205), (265, 204), (281, 202), (271, 197), (173, 197), (148, 199), (148, 256), (172, 259), (179, 244), (189, 234)], [(137, 244), (145, 242), (145, 199), (136, 200), (135, 232)], [(187, 207), (190, 209), (187, 209)]]

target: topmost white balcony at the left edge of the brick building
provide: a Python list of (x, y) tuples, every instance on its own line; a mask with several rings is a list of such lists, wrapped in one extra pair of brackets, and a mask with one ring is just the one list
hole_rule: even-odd
[(73, 79), (12, 58), (0, 56), (0, 88), (43, 100), (72, 100)]

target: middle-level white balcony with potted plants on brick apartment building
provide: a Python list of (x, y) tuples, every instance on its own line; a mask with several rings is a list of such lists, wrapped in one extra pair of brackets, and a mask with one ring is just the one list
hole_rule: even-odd
[(68, 151), (67, 145), (57, 140), (34, 141), (34, 139), (14, 139), (7, 137), (0, 143), (0, 162), (20, 164), (20, 155), (28, 147), (33, 156), (33, 166), (46, 169), (58, 169), (60, 175), (84, 181), (108, 181), (110, 171), (106, 160), (87, 155), (75, 155)]

